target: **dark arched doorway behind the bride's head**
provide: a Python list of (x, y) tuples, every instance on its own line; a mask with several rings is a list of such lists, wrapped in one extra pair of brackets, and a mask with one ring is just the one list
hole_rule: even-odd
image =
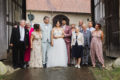
[(53, 18), (53, 26), (55, 26), (56, 21), (60, 21), (60, 23), (62, 23), (63, 19), (66, 20), (67, 25), (69, 25), (69, 18), (67, 16), (65, 16), (65, 15), (56, 15)]

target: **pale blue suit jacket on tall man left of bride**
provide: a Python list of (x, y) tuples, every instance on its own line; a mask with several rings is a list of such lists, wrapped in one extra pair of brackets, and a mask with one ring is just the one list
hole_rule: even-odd
[(46, 29), (46, 24), (40, 24), (40, 28), (42, 31), (42, 42), (51, 42), (51, 31), (52, 31), (52, 25), (48, 24), (48, 27)]

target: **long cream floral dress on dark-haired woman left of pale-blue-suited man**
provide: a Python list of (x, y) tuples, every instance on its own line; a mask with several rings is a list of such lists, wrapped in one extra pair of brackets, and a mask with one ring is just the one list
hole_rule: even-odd
[(33, 43), (32, 43), (32, 50), (31, 50), (31, 57), (29, 66), (31, 68), (42, 68), (42, 51), (41, 51), (41, 39), (42, 34), (37, 34), (35, 31), (32, 32), (34, 36)]

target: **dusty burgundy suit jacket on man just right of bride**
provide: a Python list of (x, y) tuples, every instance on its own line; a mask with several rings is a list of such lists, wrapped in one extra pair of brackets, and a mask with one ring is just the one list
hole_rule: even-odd
[(72, 36), (72, 30), (71, 30), (70, 26), (66, 25), (66, 27), (64, 29), (64, 33), (65, 33), (65, 37), (64, 37), (65, 42), (70, 43), (71, 42), (71, 36)]

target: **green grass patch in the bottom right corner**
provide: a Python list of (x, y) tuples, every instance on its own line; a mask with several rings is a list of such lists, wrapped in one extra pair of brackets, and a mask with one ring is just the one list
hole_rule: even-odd
[(120, 80), (120, 68), (113, 70), (103, 70), (99, 68), (90, 68), (96, 80)]

